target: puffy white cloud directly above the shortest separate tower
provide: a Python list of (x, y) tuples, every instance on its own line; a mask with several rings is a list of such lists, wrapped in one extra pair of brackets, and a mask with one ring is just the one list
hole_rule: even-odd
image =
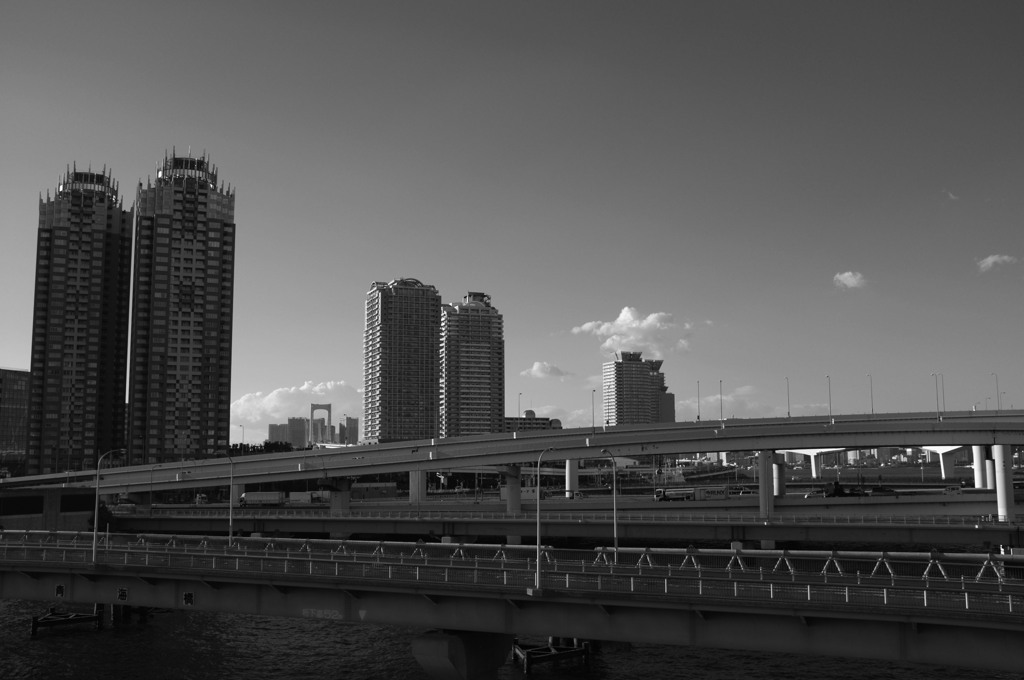
[(656, 311), (641, 316), (636, 307), (623, 307), (613, 322), (587, 322), (572, 329), (574, 334), (589, 334), (603, 338), (601, 349), (616, 351), (642, 351), (645, 358), (662, 358), (669, 351), (686, 349), (686, 340), (692, 324), (676, 324), (672, 314)]

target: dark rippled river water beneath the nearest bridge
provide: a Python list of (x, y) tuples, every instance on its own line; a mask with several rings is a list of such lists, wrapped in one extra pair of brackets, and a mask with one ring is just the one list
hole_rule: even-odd
[[(39, 602), (0, 602), (0, 679), (61, 680), (429, 680), (410, 652), (419, 631), (334, 622), (170, 611), (147, 623), (91, 625), (30, 637)], [(521, 680), (511, 663), (499, 680)], [(1022, 680), (1017, 674), (883, 662), (605, 644), (589, 671), (574, 662), (542, 666), (540, 680)]]

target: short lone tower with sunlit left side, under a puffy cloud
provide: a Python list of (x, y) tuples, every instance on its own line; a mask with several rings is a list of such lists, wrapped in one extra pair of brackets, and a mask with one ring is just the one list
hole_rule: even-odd
[(676, 420), (675, 396), (665, 385), (662, 359), (615, 352), (602, 367), (605, 425), (644, 425)]

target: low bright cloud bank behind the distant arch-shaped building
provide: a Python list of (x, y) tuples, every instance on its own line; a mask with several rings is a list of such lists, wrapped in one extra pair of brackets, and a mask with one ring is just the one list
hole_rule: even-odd
[[(344, 381), (313, 383), (306, 381), (298, 387), (279, 387), (270, 392), (250, 392), (231, 402), (231, 425), (246, 429), (246, 441), (257, 443), (266, 438), (267, 426), (287, 423), (289, 418), (308, 418), (312, 403), (331, 405), (331, 423), (338, 424), (345, 415), (358, 416), (362, 412), (362, 396)], [(327, 418), (326, 413), (314, 414)], [(241, 431), (231, 428), (231, 438), (241, 439)]]

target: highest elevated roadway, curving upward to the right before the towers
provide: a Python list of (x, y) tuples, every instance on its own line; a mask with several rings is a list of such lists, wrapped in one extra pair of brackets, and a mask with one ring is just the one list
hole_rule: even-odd
[[(492, 434), (183, 460), (104, 468), (103, 494), (155, 492), (409, 471), (507, 467), (544, 460), (643, 458), (727, 451), (1024, 444), (1024, 411), (876, 414), (660, 423), (611, 428)], [(0, 479), (0, 488), (92, 488), (94, 471)]]

